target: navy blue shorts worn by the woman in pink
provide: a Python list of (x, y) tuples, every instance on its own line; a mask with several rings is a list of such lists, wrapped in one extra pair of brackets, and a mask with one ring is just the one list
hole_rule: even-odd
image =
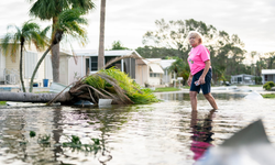
[(199, 80), (199, 77), (201, 76), (202, 73), (204, 73), (204, 69), (193, 76), (190, 91), (197, 91), (199, 94), (201, 89), (204, 95), (209, 94), (211, 91), (211, 78), (212, 78), (211, 68), (209, 68), (206, 75), (206, 78), (205, 78), (206, 84), (199, 85), (199, 86), (195, 85), (195, 81)]

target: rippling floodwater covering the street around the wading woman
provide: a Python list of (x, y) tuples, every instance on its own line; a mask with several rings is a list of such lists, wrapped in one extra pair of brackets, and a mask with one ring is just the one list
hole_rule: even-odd
[[(263, 119), (275, 144), (275, 101), (245, 94), (202, 95), (193, 112), (188, 94), (164, 101), (111, 107), (0, 107), (0, 164), (188, 165), (248, 124)], [(31, 138), (30, 132), (35, 136)], [(81, 144), (65, 145), (78, 136)]]

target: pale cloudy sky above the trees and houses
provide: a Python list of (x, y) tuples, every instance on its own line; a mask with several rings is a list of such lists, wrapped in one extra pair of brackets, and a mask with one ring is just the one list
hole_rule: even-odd
[[(85, 50), (98, 48), (100, 0), (94, 2), (97, 9), (87, 15), (89, 43)], [(0, 35), (7, 32), (7, 25), (28, 21), (30, 8), (26, 0), (1, 0)], [(106, 48), (111, 48), (113, 41), (129, 48), (143, 46), (142, 36), (156, 30), (154, 22), (160, 19), (195, 19), (230, 35), (238, 34), (249, 52), (275, 51), (274, 0), (107, 0)], [(78, 44), (74, 47), (80, 48)]]

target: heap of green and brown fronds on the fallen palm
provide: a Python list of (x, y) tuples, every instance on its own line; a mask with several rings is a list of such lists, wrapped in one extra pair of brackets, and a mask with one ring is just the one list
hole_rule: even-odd
[[(107, 66), (123, 58), (140, 59), (142, 57), (136, 57), (135, 55), (117, 57), (108, 63)], [(55, 102), (59, 96), (64, 96), (62, 92), (51, 100), (48, 105)], [(114, 67), (101, 69), (94, 75), (82, 77), (80, 80), (74, 84), (69, 91), (66, 92), (68, 92), (70, 96), (70, 98), (67, 100), (72, 100), (68, 103), (74, 103), (79, 100), (87, 100), (94, 105), (98, 105), (99, 99), (112, 99), (113, 105), (131, 105), (136, 102), (147, 103), (157, 101), (151, 91), (142, 91), (141, 87), (135, 84), (133, 79), (131, 79), (125, 73), (120, 72)]]

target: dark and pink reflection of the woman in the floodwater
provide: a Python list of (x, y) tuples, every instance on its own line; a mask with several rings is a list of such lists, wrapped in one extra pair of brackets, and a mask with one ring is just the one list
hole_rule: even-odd
[(211, 136), (213, 133), (211, 130), (213, 114), (215, 110), (211, 110), (205, 119), (198, 119), (198, 111), (191, 111), (190, 128), (193, 142), (190, 150), (194, 152), (195, 161), (200, 158), (209, 146), (212, 146), (211, 142), (213, 139)]

